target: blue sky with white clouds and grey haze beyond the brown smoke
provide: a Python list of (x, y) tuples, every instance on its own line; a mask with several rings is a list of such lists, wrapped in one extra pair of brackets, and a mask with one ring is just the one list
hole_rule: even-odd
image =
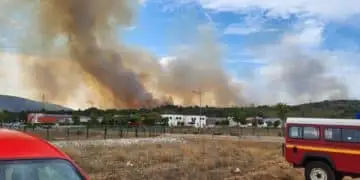
[[(360, 98), (360, 1), (142, 0), (138, 11), (119, 40), (165, 62), (209, 25), (223, 47), (224, 70), (255, 103)], [(3, 52), (11, 51), (16, 37), (0, 33)], [(0, 66), (10, 68), (0, 81), (17, 71), (3, 57)], [(26, 94), (4, 76), (1, 82), (0, 93)]]

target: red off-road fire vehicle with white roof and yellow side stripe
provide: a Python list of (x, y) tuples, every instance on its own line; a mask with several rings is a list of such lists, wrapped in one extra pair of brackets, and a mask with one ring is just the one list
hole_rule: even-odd
[(288, 118), (285, 159), (306, 180), (360, 176), (360, 120)]

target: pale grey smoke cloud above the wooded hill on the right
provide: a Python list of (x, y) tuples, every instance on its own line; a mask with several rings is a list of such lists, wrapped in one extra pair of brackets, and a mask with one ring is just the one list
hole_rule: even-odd
[[(264, 49), (263, 49), (264, 50)], [(307, 53), (297, 44), (281, 42), (264, 50), (270, 65), (265, 67), (268, 91), (276, 99), (303, 103), (325, 99), (347, 99), (345, 82), (331, 74), (331, 57), (321, 52)], [(285, 92), (285, 93), (284, 93)]]

